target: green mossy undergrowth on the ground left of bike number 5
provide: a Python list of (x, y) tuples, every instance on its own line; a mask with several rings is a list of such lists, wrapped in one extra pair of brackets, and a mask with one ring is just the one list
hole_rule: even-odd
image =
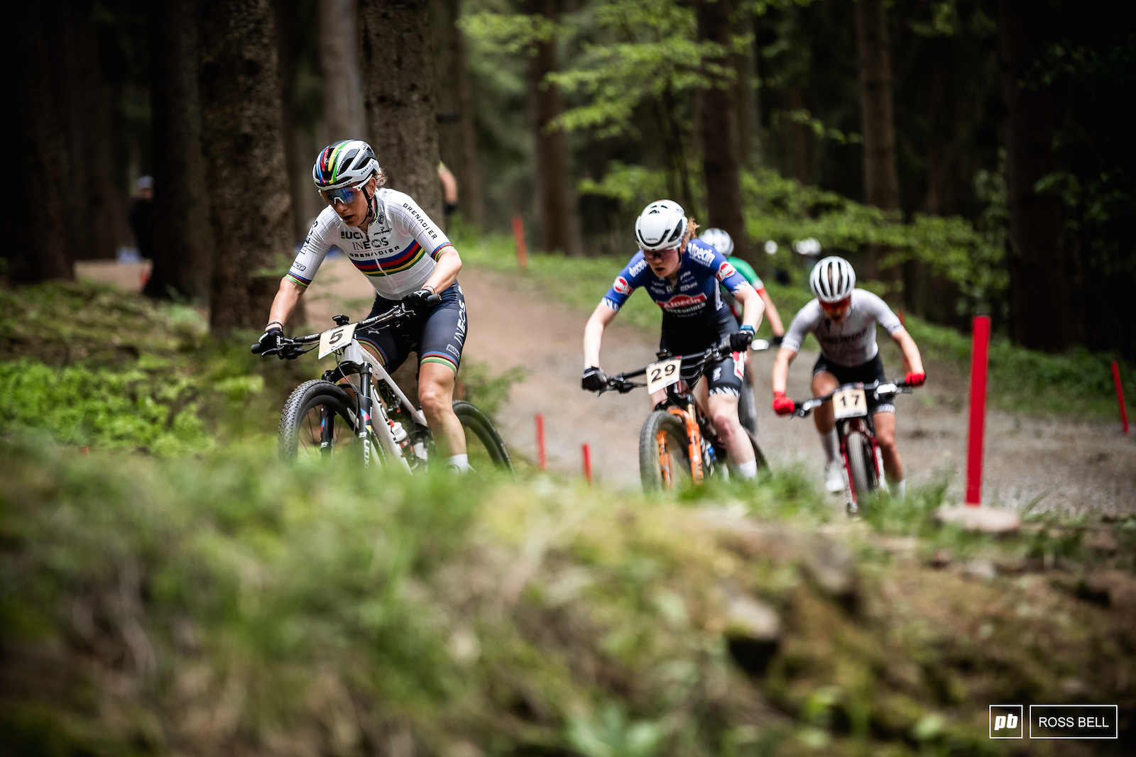
[[(0, 434), (156, 454), (201, 453), (276, 434), (284, 398), (332, 363), (211, 338), (201, 312), (91, 284), (0, 288)], [(466, 396), (494, 412), (517, 371), (466, 361)]]

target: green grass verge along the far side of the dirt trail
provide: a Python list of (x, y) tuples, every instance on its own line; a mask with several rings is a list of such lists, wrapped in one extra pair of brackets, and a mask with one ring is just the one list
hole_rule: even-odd
[[(511, 237), (474, 234), (468, 227), (459, 227), (454, 237), (462, 260), (478, 268), (508, 274), (516, 281), (527, 281), (542, 293), (573, 305), (582, 322), (595, 309), (634, 252), (628, 247), (627, 258), (567, 258), (529, 253), (528, 270), (523, 272), (517, 269)], [(796, 311), (812, 298), (808, 286), (782, 286), (776, 281), (765, 284), (788, 328)], [(662, 316), (650, 297), (636, 293), (619, 311), (619, 320), (658, 334)], [(925, 360), (944, 364), (959, 377), (969, 375), (970, 335), (913, 316), (908, 316), (905, 321)], [(758, 336), (769, 338), (771, 334), (768, 320), (762, 321)], [(882, 344), (889, 343), (883, 331), (879, 331), (878, 338)], [(805, 347), (819, 348), (812, 336), (805, 340)], [(1113, 359), (1119, 359), (1119, 355), (1093, 353), (1080, 347), (1050, 355), (1014, 346), (1009, 339), (995, 336), (989, 347), (989, 402), (995, 407), (1014, 412), (1116, 420), (1118, 411), (1111, 372)], [(1121, 360), (1121, 378), (1127, 396), (1130, 399), (1136, 397), (1136, 367)]]

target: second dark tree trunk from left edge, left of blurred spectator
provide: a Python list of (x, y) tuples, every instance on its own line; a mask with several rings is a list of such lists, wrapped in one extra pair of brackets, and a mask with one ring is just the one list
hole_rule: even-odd
[(56, 52), (70, 173), (67, 177), (68, 245), (76, 260), (114, 259), (127, 242), (126, 192), (111, 168), (111, 89), (102, 78), (94, 27), (64, 5)]

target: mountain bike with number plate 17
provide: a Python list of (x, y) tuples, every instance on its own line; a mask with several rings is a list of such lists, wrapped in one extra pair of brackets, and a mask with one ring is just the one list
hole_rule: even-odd
[(826, 402), (833, 403), (844, 470), (844, 497), (851, 515), (860, 512), (861, 497), (878, 489), (884, 480), (884, 456), (876, 443), (876, 426), (868, 412), (868, 392), (878, 401), (911, 394), (911, 387), (903, 381), (845, 384), (822, 397), (794, 402), (796, 410), (793, 414), (799, 418), (807, 418), (815, 407)]

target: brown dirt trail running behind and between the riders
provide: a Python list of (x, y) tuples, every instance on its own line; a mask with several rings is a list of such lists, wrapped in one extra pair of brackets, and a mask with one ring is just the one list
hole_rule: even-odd
[[(136, 288), (137, 271), (105, 266), (81, 275), (116, 280)], [(544, 413), (549, 466), (579, 474), (580, 445), (591, 444), (598, 481), (638, 486), (638, 431), (648, 413), (645, 395), (579, 389), (580, 340), (585, 317), (544, 297), (524, 281), (467, 268), (461, 285), (469, 310), (468, 359), (487, 362), (492, 373), (519, 365), (527, 371), (513, 386), (510, 403), (499, 413), (510, 448), (535, 459), (533, 417)], [(374, 291), (342, 258), (328, 260), (306, 296), (309, 322), (329, 325), (331, 316), (366, 313)], [(642, 295), (641, 295), (642, 296)], [(792, 313), (783, 313), (783, 318)], [(646, 364), (654, 358), (658, 335), (620, 325), (603, 343), (603, 365), (610, 371)], [(885, 350), (885, 359), (889, 350)], [(809, 394), (816, 352), (803, 351), (790, 375), (790, 395)], [(821, 453), (811, 420), (777, 418), (769, 397), (771, 353), (757, 356), (759, 439), (774, 465), (801, 464), (819, 478)], [(897, 365), (888, 365), (897, 373)], [(946, 477), (950, 496), (962, 498), (966, 473), (967, 386), (947, 367), (929, 365), (930, 384), (897, 399), (900, 447), (910, 485)], [(984, 501), (1022, 507), (1042, 498), (1038, 508), (1097, 512), (1136, 511), (1136, 438), (1124, 437), (1119, 423), (1053, 421), (993, 411), (987, 418)], [(834, 497), (834, 503), (837, 498)]]

